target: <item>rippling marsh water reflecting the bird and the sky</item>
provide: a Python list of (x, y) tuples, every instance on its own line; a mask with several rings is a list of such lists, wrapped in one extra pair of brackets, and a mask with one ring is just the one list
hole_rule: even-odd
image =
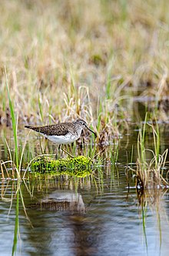
[[(161, 152), (169, 146), (169, 125), (159, 124)], [(21, 140), (25, 131), (19, 130)], [(2, 129), (0, 156), (8, 160), (12, 130)], [(37, 143), (31, 133), (30, 143)], [(126, 167), (137, 160), (138, 126), (132, 124), (119, 141), (118, 163), (101, 164), (93, 177), (25, 179), (19, 200), (17, 255), (168, 255), (169, 192), (156, 190), (148, 200), (138, 195)], [(153, 136), (147, 139), (153, 147)], [(166, 164), (167, 165), (167, 164)], [(167, 165), (168, 167), (168, 165)], [(11, 255), (15, 238), (17, 180), (0, 180), (0, 255)], [(153, 192), (152, 192), (153, 194)], [(21, 197), (21, 194), (20, 194)], [(150, 197), (150, 195), (149, 195)], [(151, 202), (150, 202), (151, 201)]]

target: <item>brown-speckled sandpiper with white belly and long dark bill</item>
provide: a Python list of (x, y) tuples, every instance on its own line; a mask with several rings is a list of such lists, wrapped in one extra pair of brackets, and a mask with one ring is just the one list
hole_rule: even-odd
[[(82, 119), (78, 119), (72, 123), (58, 123), (49, 126), (25, 126), (25, 128), (41, 133), (48, 140), (59, 144), (59, 148), (61, 144), (69, 144), (78, 140), (84, 128), (94, 133), (94, 131), (87, 126), (85, 120)], [(96, 133), (94, 133), (94, 135), (97, 136)]]

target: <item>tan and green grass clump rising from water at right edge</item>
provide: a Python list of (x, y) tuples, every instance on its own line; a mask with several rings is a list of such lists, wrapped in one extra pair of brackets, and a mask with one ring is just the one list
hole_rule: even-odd
[[(164, 177), (168, 150), (164, 150), (164, 153), (160, 152), (160, 132), (157, 123), (155, 126), (147, 123), (146, 115), (144, 126), (141, 126), (138, 134), (138, 160), (137, 170), (135, 171), (138, 190), (157, 189), (168, 184), (167, 173)], [(147, 128), (150, 128), (151, 133), (153, 133), (154, 150), (145, 147)], [(147, 159), (147, 153), (151, 153), (153, 157)]]

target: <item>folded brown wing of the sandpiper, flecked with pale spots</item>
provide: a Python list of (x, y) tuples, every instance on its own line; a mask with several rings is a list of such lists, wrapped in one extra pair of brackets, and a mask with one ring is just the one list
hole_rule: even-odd
[(66, 135), (68, 133), (68, 126), (62, 126), (61, 123), (57, 125), (50, 125), (50, 126), (25, 126), (28, 129), (35, 130), (35, 132), (42, 133), (45, 135)]

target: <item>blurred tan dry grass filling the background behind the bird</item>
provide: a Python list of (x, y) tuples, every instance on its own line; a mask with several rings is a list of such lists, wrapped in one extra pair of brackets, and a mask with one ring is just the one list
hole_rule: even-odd
[(114, 126), (147, 81), (144, 93), (168, 96), (168, 21), (165, 0), (2, 1), (0, 121), (5, 66), (20, 123), (81, 115), (94, 126), (100, 114)]

